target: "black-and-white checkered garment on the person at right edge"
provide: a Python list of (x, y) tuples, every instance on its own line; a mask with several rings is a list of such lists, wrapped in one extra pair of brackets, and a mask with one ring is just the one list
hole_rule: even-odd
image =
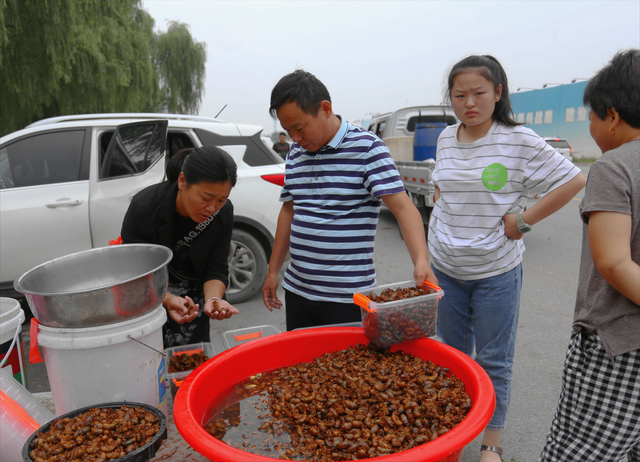
[(595, 333), (571, 338), (540, 462), (640, 462), (640, 350), (614, 359)]

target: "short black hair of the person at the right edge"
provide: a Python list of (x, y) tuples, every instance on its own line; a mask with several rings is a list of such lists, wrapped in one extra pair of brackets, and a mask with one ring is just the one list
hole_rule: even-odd
[(615, 109), (627, 124), (640, 128), (640, 49), (616, 53), (589, 80), (582, 100), (600, 120), (607, 117), (607, 109)]

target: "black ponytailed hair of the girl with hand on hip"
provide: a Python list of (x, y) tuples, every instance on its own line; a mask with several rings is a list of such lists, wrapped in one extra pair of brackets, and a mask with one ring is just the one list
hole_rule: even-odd
[(470, 71), (477, 72), (489, 82), (493, 83), (493, 89), (496, 92), (498, 91), (498, 86), (502, 85), (502, 94), (500, 95), (500, 99), (496, 101), (496, 107), (493, 110), (493, 120), (507, 126), (522, 125), (511, 117), (513, 110), (511, 109), (511, 99), (509, 98), (507, 73), (504, 71), (500, 62), (491, 55), (471, 55), (454, 64), (447, 78), (446, 98), (451, 101), (453, 80), (460, 74)]

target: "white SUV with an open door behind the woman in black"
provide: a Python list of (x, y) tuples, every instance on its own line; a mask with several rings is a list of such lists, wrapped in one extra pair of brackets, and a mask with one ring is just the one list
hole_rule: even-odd
[(226, 295), (250, 298), (266, 277), (284, 182), (284, 161), (261, 132), (188, 115), (88, 114), (0, 138), (0, 290), (36, 265), (108, 245), (131, 198), (165, 179), (172, 154), (215, 145), (238, 165)]

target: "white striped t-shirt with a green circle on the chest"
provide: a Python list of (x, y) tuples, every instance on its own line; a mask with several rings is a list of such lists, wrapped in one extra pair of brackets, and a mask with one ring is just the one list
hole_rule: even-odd
[(522, 261), (524, 242), (505, 236), (502, 217), (522, 213), (529, 192), (541, 198), (580, 169), (529, 128), (494, 122), (483, 138), (460, 143), (459, 125), (438, 138), (430, 262), (457, 279), (482, 279)]

